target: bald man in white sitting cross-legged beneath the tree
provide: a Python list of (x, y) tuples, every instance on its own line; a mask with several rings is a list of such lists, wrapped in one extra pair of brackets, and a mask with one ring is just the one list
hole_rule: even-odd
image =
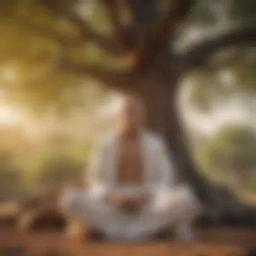
[(96, 152), (88, 191), (66, 191), (63, 211), (109, 239), (151, 238), (166, 229), (193, 238), (199, 203), (188, 187), (175, 185), (164, 141), (145, 129), (143, 102), (126, 96), (118, 117), (117, 131)]

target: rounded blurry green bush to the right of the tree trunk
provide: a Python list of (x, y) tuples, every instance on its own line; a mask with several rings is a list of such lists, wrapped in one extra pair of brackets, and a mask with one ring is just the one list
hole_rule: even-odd
[(245, 125), (223, 127), (197, 148), (196, 159), (212, 175), (247, 179), (256, 169), (256, 131)]

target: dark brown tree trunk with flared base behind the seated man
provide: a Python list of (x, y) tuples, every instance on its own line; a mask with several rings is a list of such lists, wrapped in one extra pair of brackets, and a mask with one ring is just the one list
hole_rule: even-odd
[[(141, 86), (143, 88), (144, 86)], [(148, 109), (148, 127), (163, 135), (174, 161), (177, 181), (189, 183), (205, 207), (203, 220), (208, 224), (256, 224), (256, 211), (240, 202), (226, 187), (214, 185), (197, 170), (177, 105), (177, 91), (166, 90), (159, 82), (147, 83), (141, 95)]]

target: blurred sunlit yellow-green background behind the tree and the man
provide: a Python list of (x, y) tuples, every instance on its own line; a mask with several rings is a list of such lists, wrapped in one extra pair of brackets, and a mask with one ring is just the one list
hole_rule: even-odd
[[(100, 1), (52, 2), (81, 11), (108, 34)], [(126, 59), (80, 42), (75, 26), (40, 1), (2, 0), (0, 13), (0, 200), (8, 201), (85, 179), (94, 144), (114, 125), (118, 96), (89, 77), (57, 69), (59, 40), (77, 63), (119, 66)], [(253, 23), (255, 13), (255, 0), (199, 1), (176, 43), (184, 48), (205, 33)], [(215, 61), (222, 59), (232, 65), (184, 77), (182, 113), (201, 172), (254, 199), (256, 51), (224, 49)]]

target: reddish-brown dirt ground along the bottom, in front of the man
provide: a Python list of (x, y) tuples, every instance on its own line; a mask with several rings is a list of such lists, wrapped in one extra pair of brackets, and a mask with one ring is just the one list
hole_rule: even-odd
[[(170, 255), (243, 256), (256, 245), (256, 230), (216, 228), (199, 230), (196, 243), (96, 243), (67, 238), (62, 232), (18, 232), (0, 228), (0, 256)], [(256, 255), (256, 254), (251, 254)]]

